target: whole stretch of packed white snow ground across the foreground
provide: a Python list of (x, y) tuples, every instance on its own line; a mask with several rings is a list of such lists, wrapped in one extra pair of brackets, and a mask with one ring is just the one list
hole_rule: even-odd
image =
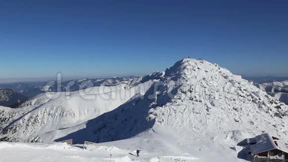
[[(26, 144), (0, 142), (3, 162), (241, 162), (236, 152), (213, 142), (182, 141), (154, 133), (100, 146), (64, 143)], [(137, 157), (136, 150), (140, 150)]]

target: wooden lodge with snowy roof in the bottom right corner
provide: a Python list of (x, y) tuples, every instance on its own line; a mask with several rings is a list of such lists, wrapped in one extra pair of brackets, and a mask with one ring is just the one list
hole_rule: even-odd
[(247, 139), (254, 162), (288, 162), (288, 144), (280, 141), (267, 133)]

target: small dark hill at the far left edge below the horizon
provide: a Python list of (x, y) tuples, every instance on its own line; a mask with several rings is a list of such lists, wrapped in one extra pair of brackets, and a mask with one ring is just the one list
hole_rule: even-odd
[(11, 106), (13, 104), (17, 104), (26, 99), (28, 99), (28, 97), (23, 96), (11, 89), (0, 89), (0, 105), (1, 106)]

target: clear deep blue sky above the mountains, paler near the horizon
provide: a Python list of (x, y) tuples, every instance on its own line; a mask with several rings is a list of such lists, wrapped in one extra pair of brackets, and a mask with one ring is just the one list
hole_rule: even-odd
[(144, 75), (185, 56), (288, 76), (288, 1), (0, 0), (0, 78)]

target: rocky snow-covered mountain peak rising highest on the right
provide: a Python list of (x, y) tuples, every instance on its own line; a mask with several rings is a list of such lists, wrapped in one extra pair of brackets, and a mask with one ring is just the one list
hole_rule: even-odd
[(217, 64), (183, 59), (160, 81), (148, 115), (156, 124), (211, 136), (214, 131), (228, 136), (235, 130), (250, 135), (288, 133), (283, 130), (288, 115), (284, 103)]

